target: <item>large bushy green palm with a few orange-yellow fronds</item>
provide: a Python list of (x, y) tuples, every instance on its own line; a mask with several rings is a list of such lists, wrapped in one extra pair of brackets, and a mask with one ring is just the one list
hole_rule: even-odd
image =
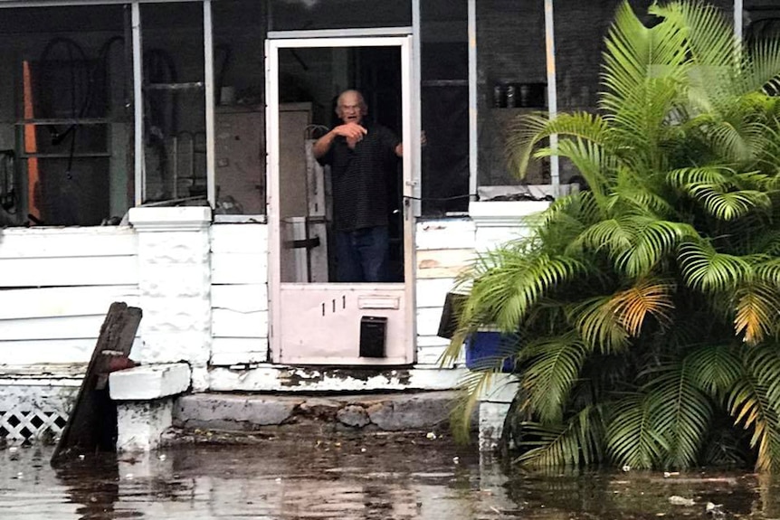
[[(521, 118), (520, 175), (566, 157), (588, 190), (483, 254), (445, 361), (517, 337), (518, 461), (780, 468), (780, 42), (693, 1), (621, 5), (597, 114)], [(557, 135), (555, 148), (547, 138)], [(471, 373), (465, 414), (496, 370)], [(718, 446), (718, 439), (728, 439)], [(718, 449), (722, 448), (722, 449)]]

